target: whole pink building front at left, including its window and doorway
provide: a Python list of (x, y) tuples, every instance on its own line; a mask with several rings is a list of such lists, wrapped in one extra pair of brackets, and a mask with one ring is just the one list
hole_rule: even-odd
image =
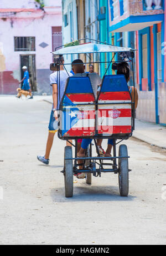
[[(42, 2), (42, 1), (40, 1)], [(38, 94), (51, 93), (49, 65), (62, 43), (61, 1), (0, 2), (0, 94), (15, 94), (27, 66)]]

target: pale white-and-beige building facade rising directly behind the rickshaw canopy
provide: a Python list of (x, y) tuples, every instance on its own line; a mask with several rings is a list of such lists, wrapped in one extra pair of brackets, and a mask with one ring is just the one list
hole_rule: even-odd
[[(88, 42), (85, 38), (99, 39), (98, 30), (98, 0), (63, 0), (63, 44), (70, 43), (76, 39), (83, 39), (80, 43)], [(95, 54), (76, 54), (73, 56), (64, 56), (65, 63), (71, 63), (76, 58), (91, 63), (98, 61)], [(66, 66), (68, 70), (71, 66)], [(98, 72), (98, 65), (95, 64)], [(86, 65), (86, 71), (89, 65)]]

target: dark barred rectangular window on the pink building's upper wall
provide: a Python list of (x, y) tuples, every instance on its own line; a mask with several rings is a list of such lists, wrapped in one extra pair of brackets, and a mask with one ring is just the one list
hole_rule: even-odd
[(35, 37), (14, 37), (14, 51), (35, 51)]

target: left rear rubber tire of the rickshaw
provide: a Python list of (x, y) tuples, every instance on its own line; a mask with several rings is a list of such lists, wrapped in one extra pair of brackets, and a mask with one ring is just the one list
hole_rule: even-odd
[[(64, 158), (72, 158), (72, 148), (65, 147)], [(72, 197), (73, 195), (73, 167), (72, 160), (64, 160), (64, 179), (65, 179), (65, 197)]]

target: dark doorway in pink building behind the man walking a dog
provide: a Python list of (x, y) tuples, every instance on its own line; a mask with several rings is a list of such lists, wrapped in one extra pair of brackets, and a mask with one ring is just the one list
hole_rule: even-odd
[(35, 54), (24, 54), (20, 55), (20, 68), (21, 68), (21, 79), (24, 76), (22, 70), (23, 66), (27, 66), (29, 72), (29, 83), (33, 92), (37, 91), (37, 77), (36, 77), (36, 64)]

